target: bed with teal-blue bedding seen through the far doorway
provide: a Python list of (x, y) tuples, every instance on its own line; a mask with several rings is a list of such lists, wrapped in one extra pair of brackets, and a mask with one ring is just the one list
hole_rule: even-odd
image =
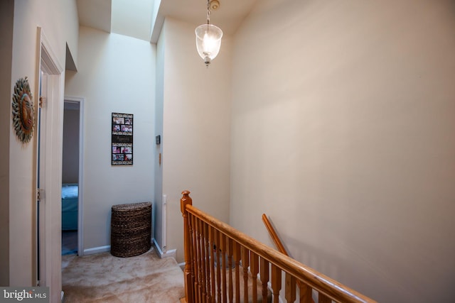
[(79, 187), (77, 183), (62, 184), (62, 230), (77, 230), (77, 206)]

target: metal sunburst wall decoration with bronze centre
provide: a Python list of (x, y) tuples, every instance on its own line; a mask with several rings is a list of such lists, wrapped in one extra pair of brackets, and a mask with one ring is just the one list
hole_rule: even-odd
[(27, 77), (18, 79), (13, 93), (13, 126), (22, 143), (28, 143), (33, 136), (33, 102)]

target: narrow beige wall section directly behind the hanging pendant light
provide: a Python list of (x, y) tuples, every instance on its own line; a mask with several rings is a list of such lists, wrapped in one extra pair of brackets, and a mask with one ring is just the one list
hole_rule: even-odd
[(205, 67), (195, 47), (197, 25), (164, 23), (163, 194), (168, 197), (168, 248), (183, 262), (181, 192), (229, 221), (231, 41)]

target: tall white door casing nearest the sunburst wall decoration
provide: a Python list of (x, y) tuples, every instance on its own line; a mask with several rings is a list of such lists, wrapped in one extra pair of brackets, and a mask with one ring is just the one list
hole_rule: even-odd
[[(42, 28), (38, 32), (37, 79), (43, 72), (41, 89), (46, 98), (41, 111), (40, 128), (40, 187), (44, 190), (40, 202), (40, 281), (48, 286), (50, 301), (58, 302), (62, 291), (61, 270), (61, 185), (63, 131), (63, 68), (58, 62)], [(37, 81), (37, 94), (39, 94)], [(43, 144), (41, 144), (41, 142)], [(37, 163), (38, 164), (38, 163)]]

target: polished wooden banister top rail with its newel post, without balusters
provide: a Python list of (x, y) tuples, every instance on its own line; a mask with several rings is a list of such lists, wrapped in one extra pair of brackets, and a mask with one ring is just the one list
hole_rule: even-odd
[[(225, 224), (222, 221), (219, 221), (213, 216), (209, 214), (205, 214), (205, 212), (200, 211), (196, 207), (192, 205), (192, 199), (189, 197), (190, 192), (184, 191), (182, 192), (183, 197), (181, 199), (181, 211), (183, 215), (184, 221), (184, 240), (185, 240), (185, 261), (186, 261), (186, 269), (185, 269), (185, 276), (186, 279), (189, 279), (189, 273), (191, 272), (191, 253), (190, 248), (188, 245), (191, 242), (191, 235), (187, 232), (188, 225), (188, 214), (195, 216), (196, 218), (200, 219), (201, 221), (205, 222), (212, 228), (215, 228), (217, 231), (222, 233), (228, 238), (240, 243), (241, 246), (247, 248), (251, 252), (259, 255), (260, 258), (267, 260), (272, 265), (275, 265), (277, 268), (284, 270), (284, 272), (289, 272), (289, 274), (293, 277), (296, 277), (297, 280), (301, 280), (304, 284), (309, 285), (309, 287), (313, 288), (314, 290), (318, 291), (321, 294), (325, 294), (327, 297), (335, 300), (336, 302), (364, 302), (364, 303), (373, 303), (375, 302), (373, 299), (370, 299), (355, 290), (342, 285), (341, 283), (337, 282), (336, 280), (323, 275), (321, 272), (317, 272), (316, 270), (309, 268), (308, 266), (299, 263), (298, 261), (290, 258), (283, 253), (280, 253), (269, 246), (257, 241), (255, 238), (247, 236), (245, 233), (238, 231), (237, 229)], [(186, 280), (191, 282), (190, 280)], [(186, 285), (186, 294), (188, 296), (188, 292), (192, 292), (191, 290), (187, 290), (190, 288), (191, 285)]]

